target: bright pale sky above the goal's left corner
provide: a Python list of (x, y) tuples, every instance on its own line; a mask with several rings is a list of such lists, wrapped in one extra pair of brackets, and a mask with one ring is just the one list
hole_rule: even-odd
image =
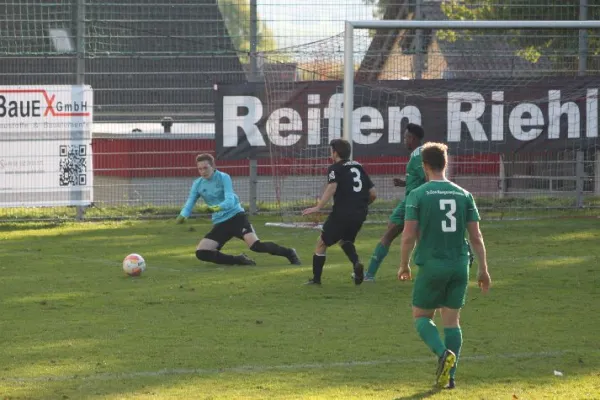
[(373, 19), (374, 9), (363, 0), (257, 0), (257, 7), (278, 48), (341, 33), (344, 21)]

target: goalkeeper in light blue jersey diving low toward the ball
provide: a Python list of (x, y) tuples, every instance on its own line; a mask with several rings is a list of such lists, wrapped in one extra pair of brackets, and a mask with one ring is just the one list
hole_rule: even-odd
[(291, 264), (300, 265), (296, 250), (258, 239), (238, 196), (233, 191), (231, 177), (215, 169), (213, 156), (200, 154), (196, 157), (196, 164), (200, 178), (192, 184), (188, 200), (176, 222), (185, 222), (199, 198), (204, 200), (213, 213), (213, 228), (200, 240), (196, 248), (196, 257), (199, 260), (224, 265), (256, 265), (256, 262), (245, 254), (233, 256), (221, 253), (225, 243), (236, 237), (246, 242), (248, 248), (254, 252), (285, 257)]

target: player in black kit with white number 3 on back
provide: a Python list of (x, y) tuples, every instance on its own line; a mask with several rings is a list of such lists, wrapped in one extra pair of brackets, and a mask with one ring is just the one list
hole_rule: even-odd
[(350, 158), (350, 143), (334, 139), (329, 144), (333, 165), (327, 170), (327, 187), (315, 207), (302, 211), (302, 215), (319, 212), (333, 197), (333, 208), (323, 224), (321, 236), (313, 255), (313, 277), (307, 285), (320, 285), (325, 252), (328, 247), (339, 243), (354, 269), (354, 283), (360, 285), (364, 279), (364, 266), (358, 259), (354, 240), (367, 218), (369, 204), (375, 198), (375, 188), (363, 166)]

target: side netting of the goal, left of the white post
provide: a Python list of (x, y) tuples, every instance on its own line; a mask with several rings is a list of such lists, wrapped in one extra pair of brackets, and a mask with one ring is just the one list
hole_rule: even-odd
[[(328, 143), (341, 137), (341, 101), (335, 108), (326, 111), (321, 105), (330, 98), (341, 100), (341, 95), (331, 95), (335, 94), (343, 76), (343, 41), (340, 34), (263, 54), (261, 70), (267, 108), (270, 111), (306, 109), (305, 117), (283, 116), (292, 127), (298, 124), (305, 126), (305, 143), (288, 146), (285, 140), (284, 143), (269, 141), (268, 173), (272, 176), (269, 184), (272, 183), (275, 212), (280, 217), (272, 225), (318, 228), (323, 221), (322, 214), (301, 214), (303, 209), (314, 206), (319, 200), (326, 184), (327, 167), (331, 164)], [(322, 95), (318, 90), (311, 90), (322, 82), (333, 82), (331, 93)], [(323, 134), (325, 114), (331, 125)], [(272, 128), (269, 124), (273, 122), (272, 119), (267, 122), (267, 131)]]

